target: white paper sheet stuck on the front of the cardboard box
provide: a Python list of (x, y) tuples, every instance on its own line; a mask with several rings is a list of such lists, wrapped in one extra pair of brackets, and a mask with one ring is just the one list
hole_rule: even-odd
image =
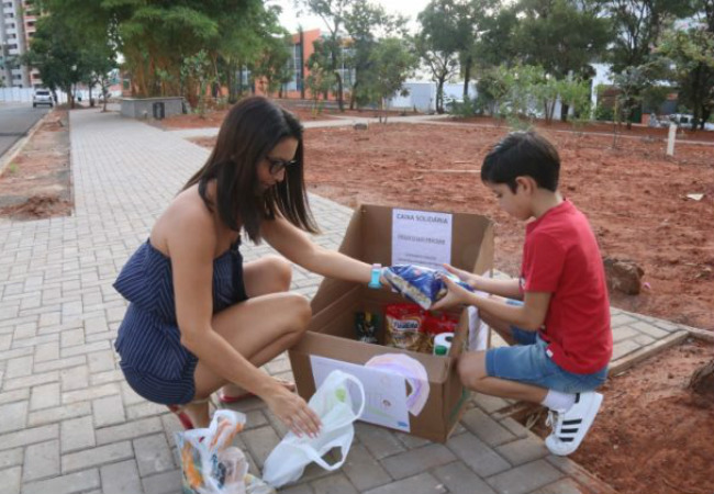
[[(410, 431), (409, 411), (406, 407), (406, 380), (392, 372), (369, 369), (356, 363), (310, 356), (312, 375), (315, 389), (327, 378), (330, 372), (341, 370), (357, 378), (365, 388), (365, 412), (360, 420), (389, 427), (404, 433)], [(359, 395), (350, 389), (350, 395), (356, 403)]]

